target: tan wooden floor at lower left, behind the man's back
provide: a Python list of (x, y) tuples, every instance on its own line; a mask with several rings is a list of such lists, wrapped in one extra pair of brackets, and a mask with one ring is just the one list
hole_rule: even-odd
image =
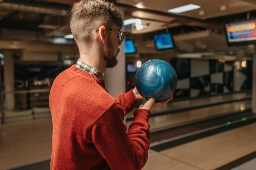
[(52, 120), (0, 125), (0, 170), (51, 157)]

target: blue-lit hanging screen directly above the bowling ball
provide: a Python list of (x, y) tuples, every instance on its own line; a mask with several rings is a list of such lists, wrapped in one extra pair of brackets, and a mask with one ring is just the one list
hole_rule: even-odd
[(173, 37), (170, 33), (159, 34), (154, 36), (156, 50), (174, 49)]

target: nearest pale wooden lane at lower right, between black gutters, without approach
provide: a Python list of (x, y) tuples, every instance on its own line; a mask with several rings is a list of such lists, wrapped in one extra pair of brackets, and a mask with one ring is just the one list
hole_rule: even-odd
[(256, 151), (256, 123), (202, 138), (160, 153), (204, 170), (214, 170)]

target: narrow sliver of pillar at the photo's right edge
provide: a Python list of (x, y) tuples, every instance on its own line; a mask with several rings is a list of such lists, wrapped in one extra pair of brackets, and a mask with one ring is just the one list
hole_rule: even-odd
[(253, 74), (252, 74), (252, 113), (256, 114), (256, 45), (253, 54)]

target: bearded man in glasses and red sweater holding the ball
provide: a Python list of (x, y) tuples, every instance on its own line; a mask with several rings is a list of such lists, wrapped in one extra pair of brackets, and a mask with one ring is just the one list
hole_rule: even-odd
[(143, 98), (135, 88), (115, 99), (102, 80), (106, 68), (118, 63), (122, 26), (112, 3), (82, 0), (72, 7), (70, 27), (80, 59), (55, 79), (50, 92), (52, 170), (139, 170), (147, 161), (150, 113), (170, 99), (141, 104), (127, 132), (124, 116)]

